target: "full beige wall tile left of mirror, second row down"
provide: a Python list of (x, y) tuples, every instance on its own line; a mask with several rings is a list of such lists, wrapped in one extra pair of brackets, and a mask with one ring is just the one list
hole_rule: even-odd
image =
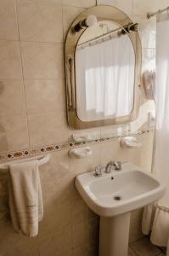
[(21, 43), (25, 79), (63, 77), (63, 48), (54, 43)]

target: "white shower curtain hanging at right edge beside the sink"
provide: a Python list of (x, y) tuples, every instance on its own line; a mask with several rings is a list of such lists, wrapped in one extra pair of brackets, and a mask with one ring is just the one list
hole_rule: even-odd
[(150, 241), (168, 247), (169, 256), (169, 15), (157, 16), (156, 34), (156, 129), (152, 170), (166, 183), (166, 195), (144, 209), (142, 230), (151, 230)]

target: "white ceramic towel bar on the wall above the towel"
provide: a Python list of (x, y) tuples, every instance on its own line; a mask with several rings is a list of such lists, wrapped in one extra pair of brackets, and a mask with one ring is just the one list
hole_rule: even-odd
[(31, 161), (31, 160), (38, 160), (38, 165), (42, 166), (42, 165), (48, 163), (48, 161), (50, 160), (50, 154), (43, 154), (43, 155), (29, 157), (29, 158), (25, 158), (25, 159), (21, 159), (21, 160), (12, 160), (7, 163), (0, 164), (0, 169), (6, 170), (6, 169), (8, 169), (8, 166), (10, 164), (23, 163), (23, 162), (27, 162), (27, 161)]

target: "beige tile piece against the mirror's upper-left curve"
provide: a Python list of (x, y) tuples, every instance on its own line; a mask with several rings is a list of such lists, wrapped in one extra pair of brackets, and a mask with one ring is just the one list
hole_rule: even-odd
[(80, 15), (84, 10), (83, 8), (73, 6), (63, 6), (64, 34), (68, 31), (70, 24), (76, 19), (76, 16)]

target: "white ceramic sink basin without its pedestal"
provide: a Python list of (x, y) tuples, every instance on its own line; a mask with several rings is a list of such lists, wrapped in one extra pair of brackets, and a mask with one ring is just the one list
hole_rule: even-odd
[(104, 217), (144, 207), (165, 191), (165, 186), (149, 172), (130, 163), (122, 164), (120, 172), (103, 173), (101, 177), (87, 172), (77, 176), (75, 183), (88, 207)]

